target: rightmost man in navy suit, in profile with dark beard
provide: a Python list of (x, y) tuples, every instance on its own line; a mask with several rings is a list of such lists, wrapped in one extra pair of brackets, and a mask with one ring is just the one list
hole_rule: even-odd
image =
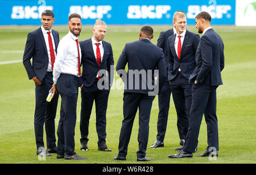
[(196, 68), (189, 77), (192, 86), (192, 105), (189, 117), (188, 134), (183, 150), (170, 158), (192, 157), (203, 114), (207, 123), (208, 147), (198, 156), (218, 156), (218, 123), (216, 115), (216, 89), (223, 84), (221, 71), (224, 69), (224, 43), (210, 27), (211, 16), (200, 12), (196, 16), (196, 28), (203, 33), (196, 50)]

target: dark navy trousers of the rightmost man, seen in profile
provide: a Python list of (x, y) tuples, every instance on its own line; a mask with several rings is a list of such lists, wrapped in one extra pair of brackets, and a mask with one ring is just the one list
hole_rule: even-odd
[(218, 123), (216, 116), (216, 88), (205, 84), (193, 84), (192, 105), (189, 117), (188, 134), (185, 139), (184, 151), (194, 152), (203, 114), (207, 123), (208, 147), (218, 151)]

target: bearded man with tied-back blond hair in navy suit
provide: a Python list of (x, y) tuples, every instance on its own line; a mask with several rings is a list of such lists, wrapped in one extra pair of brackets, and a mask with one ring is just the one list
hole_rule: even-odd
[(98, 150), (112, 151), (106, 146), (106, 110), (114, 78), (114, 59), (111, 44), (103, 40), (106, 29), (106, 23), (98, 19), (94, 24), (93, 37), (80, 42), (82, 53), (80, 142), (82, 151), (88, 151), (89, 119), (93, 101), (96, 107)]

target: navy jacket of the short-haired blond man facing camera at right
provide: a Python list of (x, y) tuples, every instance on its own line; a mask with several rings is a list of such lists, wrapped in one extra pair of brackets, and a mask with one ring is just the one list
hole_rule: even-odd
[(189, 79), (189, 76), (196, 67), (195, 55), (200, 41), (198, 34), (189, 32), (185, 33), (183, 44), (181, 46), (180, 59), (176, 54), (174, 42), (175, 35), (168, 37), (168, 80), (172, 80), (177, 75), (179, 67), (181, 74)]

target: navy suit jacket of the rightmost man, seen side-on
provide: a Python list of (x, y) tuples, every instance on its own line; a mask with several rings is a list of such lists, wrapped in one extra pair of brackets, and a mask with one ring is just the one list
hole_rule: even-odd
[(221, 37), (209, 29), (201, 37), (196, 50), (196, 68), (189, 77), (189, 82), (209, 86), (219, 86), (222, 83), (221, 71), (224, 69), (224, 43)]

